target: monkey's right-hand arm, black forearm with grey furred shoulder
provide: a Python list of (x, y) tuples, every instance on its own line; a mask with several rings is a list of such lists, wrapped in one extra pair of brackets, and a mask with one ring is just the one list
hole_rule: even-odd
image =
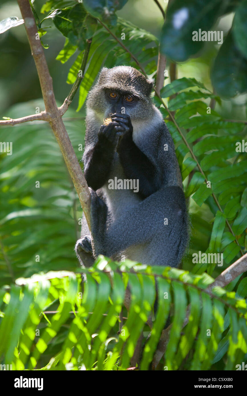
[[(121, 165), (128, 178), (139, 179), (139, 191), (144, 198), (159, 190), (163, 185), (183, 188), (175, 147), (165, 122), (161, 122), (141, 140), (141, 149), (133, 141), (133, 128), (123, 114), (125, 133), (117, 147)], [(113, 120), (123, 126), (119, 115)]]

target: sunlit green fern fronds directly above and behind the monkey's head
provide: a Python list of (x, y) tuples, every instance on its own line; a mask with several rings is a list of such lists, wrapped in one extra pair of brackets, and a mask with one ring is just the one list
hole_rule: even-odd
[[(153, 34), (146, 32), (144, 29), (138, 29), (136, 26), (123, 21), (121, 18), (118, 19), (117, 27), (112, 29), (112, 32), (118, 38), (124, 34), (129, 51), (135, 53), (139, 61), (146, 65), (147, 73), (151, 74), (155, 72), (155, 56), (158, 54), (158, 40)], [(68, 46), (67, 42), (65, 43), (65, 47), (66, 46)], [(71, 49), (71, 47), (69, 47), (69, 49)], [(63, 62), (67, 61), (72, 55), (72, 53), (67, 51), (64, 57), (64, 51), (65, 48), (63, 48), (57, 56), (57, 59), (61, 60), (62, 58)], [(80, 70), (82, 56), (83, 53), (81, 52), (69, 70), (67, 83), (73, 84), (75, 82), (78, 71)], [(119, 43), (100, 27), (93, 35), (93, 42), (88, 59), (88, 68), (85, 72), (82, 84), (80, 85), (79, 105), (77, 110), (80, 110), (84, 105), (88, 91), (90, 91), (103, 64), (105, 67), (113, 67), (128, 63), (128, 65), (136, 67), (136, 63), (130, 59), (130, 54), (119, 46)]]

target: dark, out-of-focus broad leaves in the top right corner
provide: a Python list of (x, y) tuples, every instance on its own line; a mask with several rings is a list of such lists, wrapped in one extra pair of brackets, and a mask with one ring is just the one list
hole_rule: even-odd
[(205, 43), (203, 37), (193, 41), (194, 32), (216, 32), (217, 18), (232, 11), (236, 11), (232, 29), (218, 51), (211, 76), (217, 93), (224, 97), (247, 91), (246, 0), (233, 2), (233, 6), (228, 0), (189, 0), (186, 5), (175, 0), (168, 6), (161, 36), (161, 51), (173, 61), (185, 61)]

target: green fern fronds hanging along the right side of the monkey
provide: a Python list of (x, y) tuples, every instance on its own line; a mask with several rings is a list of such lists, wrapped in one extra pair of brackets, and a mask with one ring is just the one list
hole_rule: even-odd
[[(241, 249), (245, 249), (247, 162), (242, 140), (246, 136), (246, 127), (244, 123), (224, 121), (205, 102), (194, 101), (198, 97), (213, 97), (195, 79), (174, 80), (161, 89), (164, 98), (174, 94), (175, 97), (168, 101), (168, 108), (176, 110), (175, 120), (180, 133), (173, 122), (168, 121), (167, 126), (176, 143), (182, 177), (185, 180), (190, 175), (186, 179), (185, 194), (192, 196), (197, 205), (205, 203), (209, 206), (215, 220), (206, 253), (221, 252), (228, 264)], [(199, 270), (201, 273), (206, 268), (212, 274), (214, 267), (199, 263), (193, 272)]]

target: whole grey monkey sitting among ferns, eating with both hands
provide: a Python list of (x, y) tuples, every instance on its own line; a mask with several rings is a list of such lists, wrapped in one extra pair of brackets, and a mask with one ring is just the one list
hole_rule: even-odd
[[(92, 239), (83, 216), (75, 246), (82, 267), (99, 254), (178, 267), (188, 246), (182, 177), (172, 137), (151, 98), (153, 88), (154, 80), (133, 67), (103, 67), (88, 93), (82, 160)], [(124, 189), (123, 181), (136, 181), (138, 188)]]

